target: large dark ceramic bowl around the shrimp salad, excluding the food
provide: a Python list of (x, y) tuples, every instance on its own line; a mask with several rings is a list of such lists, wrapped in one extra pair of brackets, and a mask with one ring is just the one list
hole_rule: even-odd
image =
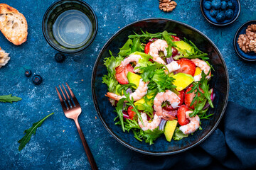
[[(149, 33), (158, 33), (167, 30), (170, 33), (176, 33), (179, 38), (188, 38), (188, 40), (195, 43), (203, 52), (208, 53), (210, 57), (209, 62), (215, 69), (213, 72), (214, 77), (210, 81), (210, 87), (213, 87), (216, 94), (213, 102), (215, 107), (210, 108), (208, 111), (208, 113), (214, 113), (214, 115), (210, 117), (210, 120), (202, 120), (203, 130), (198, 130), (193, 135), (183, 138), (183, 140), (171, 140), (171, 142), (167, 142), (163, 135), (153, 145), (149, 145), (148, 143), (136, 140), (132, 132), (122, 132), (122, 128), (119, 125), (114, 125), (114, 118), (117, 116), (117, 113), (114, 112), (114, 107), (111, 106), (108, 98), (105, 97), (107, 86), (102, 84), (102, 77), (104, 74), (107, 74), (107, 69), (103, 63), (106, 57), (110, 57), (109, 50), (116, 56), (119, 48), (127, 41), (128, 35), (134, 34), (134, 32), (141, 33), (141, 30), (148, 31)], [(213, 42), (199, 30), (185, 23), (166, 18), (144, 19), (131, 23), (119, 30), (102, 47), (92, 72), (93, 101), (103, 125), (122, 145), (144, 154), (175, 154), (190, 149), (205, 140), (215, 130), (224, 114), (228, 102), (228, 91), (228, 71), (220, 51)]]

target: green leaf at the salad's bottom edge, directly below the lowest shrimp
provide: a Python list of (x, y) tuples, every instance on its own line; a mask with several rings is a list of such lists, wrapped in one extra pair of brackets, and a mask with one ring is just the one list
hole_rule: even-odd
[(149, 143), (149, 145), (154, 144), (154, 140), (159, 138), (161, 135), (163, 135), (164, 130), (159, 130), (159, 127), (155, 128), (154, 130), (141, 130), (141, 134), (143, 139), (146, 143)]

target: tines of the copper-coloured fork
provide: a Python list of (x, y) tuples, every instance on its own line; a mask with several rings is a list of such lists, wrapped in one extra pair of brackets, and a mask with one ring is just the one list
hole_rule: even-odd
[[(65, 89), (65, 86), (62, 84), (66, 95), (64, 94), (63, 89), (61, 89), (61, 86), (59, 85), (60, 91), (64, 97), (64, 101), (63, 101), (63, 98), (62, 98), (60, 92), (58, 91), (58, 88), (56, 86), (55, 86), (55, 88), (56, 88), (58, 97), (60, 98), (61, 106), (63, 107), (63, 109), (69, 110), (70, 108), (74, 108), (74, 107), (78, 106), (79, 103), (78, 103), (78, 100), (75, 98), (73, 91), (71, 91), (70, 86), (68, 86), (67, 83), (65, 83), (65, 84), (68, 87), (68, 91), (70, 92), (71, 98), (70, 98), (70, 95), (68, 94), (68, 91)], [(66, 96), (68, 96), (68, 98)]]

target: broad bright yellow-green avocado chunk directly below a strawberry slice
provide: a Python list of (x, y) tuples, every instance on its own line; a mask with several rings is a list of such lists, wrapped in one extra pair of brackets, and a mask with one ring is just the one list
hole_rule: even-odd
[(191, 76), (191, 74), (186, 73), (178, 73), (173, 76), (174, 80), (174, 86), (176, 86), (177, 91), (181, 91), (185, 89), (189, 84), (191, 84), (194, 79)]

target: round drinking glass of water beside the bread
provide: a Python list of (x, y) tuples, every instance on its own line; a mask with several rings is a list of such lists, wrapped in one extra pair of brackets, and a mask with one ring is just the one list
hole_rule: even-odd
[(80, 52), (95, 39), (97, 16), (85, 1), (55, 1), (43, 16), (42, 30), (55, 50)]

